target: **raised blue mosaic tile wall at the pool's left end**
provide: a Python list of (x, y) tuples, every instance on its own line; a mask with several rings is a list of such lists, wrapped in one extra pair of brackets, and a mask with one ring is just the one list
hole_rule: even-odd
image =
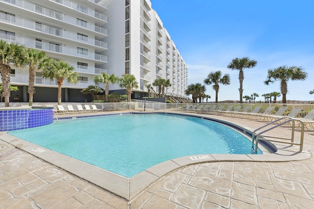
[(53, 109), (0, 110), (0, 131), (11, 131), (53, 122)]

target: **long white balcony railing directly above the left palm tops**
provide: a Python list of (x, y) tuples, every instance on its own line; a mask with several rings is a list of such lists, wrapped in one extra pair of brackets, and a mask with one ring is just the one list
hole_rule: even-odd
[(50, 51), (50, 52), (55, 52), (55, 53), (61, 53), (61, 54), (66, 54), (66, 55), (71, 55), (71, 56), (84, 57), (87, 59), (107, 62), (107, 56), (105, 55), (89, 53), (87, 51), (77, 50), (76, 48), (58, 46), (58, 45), (38, 42), (35, 40), (25, 39), (25, 38), (21, 38), (17, 36), (10, 36), (10, 35), (1, 34), (1, 33), (0, 33), (0, 38), (7, 43), (18, 43), (29, 48), (37, 48), (44, 51)]

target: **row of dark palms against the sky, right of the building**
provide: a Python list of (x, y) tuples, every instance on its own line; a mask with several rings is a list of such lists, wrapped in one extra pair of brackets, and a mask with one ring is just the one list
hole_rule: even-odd
[[(244, 69), (251, 69), (257, 65), (257, 61), (254, 59), (250, 59), (249, 57), (243, 58), (235, 58), (233, 59), (227, 66), (228, 69), (231, 70), (239, 70), (239, 96), (240, 96), (240, 103), (243, 103), (243, 98), (247, 100), (254, 100), (259, 95), (257, 93), (243, 96), (243, 80), (244, 80)], [(267, 78), (264, 81), (265, 85), (269, 85), (274, 83), (275, 81), (280, 81), (280, 92), (283, 96), (283, 103), (287, 103), (287, 93), (288, 93), (288, 80), (305, 80), (308, 76), (308, 73), (304, 71), (302, 67), (297, 66), (280, 66), (274, 69), (268, 69), (267, 71)], [(218, 92), (219, 92), (219, 84), (221, 85), (230, 85), (230, 75), (228, 73), (222, 75), (220, 70), (212, 71), (208, 74), (207, 78), (204, 79), (204, 84), (212, 85), (212, 89), (216, 93), (215, 102), (218, 102)], [(196, 102), (195, 98), (199, 98), (199, 102), (201, 102), (201, 97), (205, 95), (206, 87), (201, 83), (190, 84), (187, 86), (185, 94), (189, 95), (192, 94), (193, 102)], [(310, 91), (310, 94), (314, 94), (314, 90)], [(273, 92), (268, 94), (263, 94), (262, 96), (265, 97), (265, 101), (267, 99), (271, 102), (271, 97), (274, 97), (274, 101), (276, 98), (280, 96), (280, 93)]]

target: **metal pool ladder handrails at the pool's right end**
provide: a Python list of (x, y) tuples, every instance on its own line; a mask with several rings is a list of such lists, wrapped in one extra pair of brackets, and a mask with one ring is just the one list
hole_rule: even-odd
[[(282, 121), (282, 122), (280, 122)], [(279, 123), (280, 122), (280, 123)], [(292, 130), (291, 130), (291, 138), (282, 138), (282, 137), (273, 137), (273, 136), (262, 136), (262, 134), (270, 131), (270, 130), (273, 130), (277, 127), (280, 127), (284, 124), (287, 124), (287, 123), (292, 123), (292, 125), (290, 124)], [(294, 130), (295, 130), (295, 122), (298, 122), (300, 125), (301, 125), (301, 136), (300, 136), (300, 143), (296, 143), (294, 142)], [(274, 124), (274, 123), (279, 123), (275, 126), (272, 126), (264, 131), (261, 131), (260, 133), (256, 133), (257, 131), (271, 125), (271, 124)], [(280, 142), (280, 143), (285, 143), (285, 144), (291, 144), (291, 145), (299, 145), (300, 146), (300, 152), (302, 152), (302, 149), (303, 149), (303, 138), (304, 138), (304, 124), (302, 121), (298, 120), (298, 119), (294, 119), (294, 118), (290, 118), (290, 117), (281, 117), (271, 123), (268, 123), (258, 129), (256, 129), (253, 134), (252, 134), (252, 150), (255, 154), (257, 154), (257, 148), (258, 148), (258, 143), (259, 143), (259, 140), (263, 140), (263, 141), (272, 141), (272, 142)], [(278, 140), (279, 139), (279, 140)], [(255, 144), (254, 144), (255, 142)]]

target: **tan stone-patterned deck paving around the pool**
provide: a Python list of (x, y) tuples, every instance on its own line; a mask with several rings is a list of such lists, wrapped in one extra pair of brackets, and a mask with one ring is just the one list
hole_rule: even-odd
[[(245, 118), (203, 116), (229, 121), (248, 130), (265, 124)], [(287, 130), (280, 128), (275, 134), (289, 135)], [(210, 163), (190, 162), (188, 157), (175, 159), (165, 176), (160, 168), (167, 166), (151, 168), (154, 183), (144, 185), (144, 190), (139, 194), (135, 192), (136, 196), (128, 202), (98, 188), (95, 182), (80, 180), (80, 176), (24, 152), (25, 144), (0, 133), (0, 208), (312, 208), (313, 135), (313, 132), (305, 133), (302, 153), (296, 152), (298, 146), (279, 145), (279, 151), (274, 154), (208, 155), (210, 159), (206, 161), (212, 160)], [(262, 159), (257, 159), (259, 157)], [(50, 156), (50, 160), (53, 158)], [(185, 166), (188, 164), (185, 161), (197, 164)], [(73, 167), (87, 172), (81, 164)], [(134, 182), (145, 184), (146, 178), (144, 175)], [(102, 175), (95, 179), (108, 180)], [(113, 189), (121, 186), (111, 183)], [(131, 182), (129, 184), (130, 189)]]

